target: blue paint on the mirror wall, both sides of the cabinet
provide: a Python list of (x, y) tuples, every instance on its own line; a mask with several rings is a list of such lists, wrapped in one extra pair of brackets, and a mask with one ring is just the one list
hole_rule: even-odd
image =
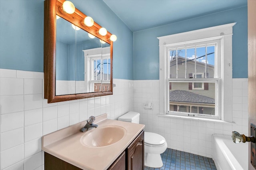
[[(113, 77), (133, 79), (133, 33), (101, 0), (71, 0), (117, 36)], [(44, 70), (44, 0), (0, 0), (0, 68)]]

